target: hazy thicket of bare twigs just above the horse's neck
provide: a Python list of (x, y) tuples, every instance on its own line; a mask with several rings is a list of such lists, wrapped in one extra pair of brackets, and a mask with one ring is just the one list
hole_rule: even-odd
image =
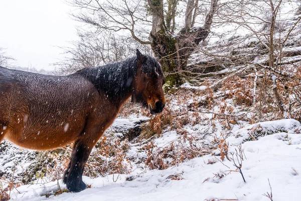
[(78, 31), (78, 36), (79, 40), (72, 42), (71, 47), (60, 47), (66, 57), (54, 63), (60, 69), (58, 73), (67, 74), (86, 67), (120, 61), (131, 56), (134, 51), (132, 41), (116, 37), (110, 32), (94, 34), (81, 30)]

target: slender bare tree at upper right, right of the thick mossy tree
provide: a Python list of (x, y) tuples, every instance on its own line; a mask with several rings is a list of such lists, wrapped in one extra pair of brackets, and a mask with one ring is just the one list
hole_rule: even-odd
[[(289, 6), (290, 9), (287, 8)], [(288, 16), (296, 11), (291, 1), (241, 0), (226, 3), (223, 8), (218, 13), (218, 18), (246, 33), (241, 40), (253, 39), (258, 42), (258, 46), (268, 52), (268, 68), (281, 73), (283, 47), (291, 31), (301, 21), (299, 17), (291, 26), (286, 25)]]

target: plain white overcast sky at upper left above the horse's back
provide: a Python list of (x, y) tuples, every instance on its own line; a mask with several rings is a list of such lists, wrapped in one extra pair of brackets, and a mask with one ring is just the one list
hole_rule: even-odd
[(0, 47), (16, 65), (54, 69), (50, 64), (63, 58), (57, 46), (77, 38), (72, 9), (65, 0), (1, 0)]

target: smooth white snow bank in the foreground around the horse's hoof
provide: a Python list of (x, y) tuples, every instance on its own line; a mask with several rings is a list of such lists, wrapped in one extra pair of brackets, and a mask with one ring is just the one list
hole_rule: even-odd
[[(122, 121), (121, 121), (122, 122)], [(78, 193), (45, 194), (58, 190), (57, 181), (23, 185), (11, 192), (15, 200), (300, 200), (301, 126), (295, 120), (262, 122), (236, 130), (227, 139), (228, 156), (241, 160), (246, 182), (233, 161), (205, 155), (165, 170), (135, 168), (128, 175), (84, 177), (91, 188)], [(254, 134), (256, 133), (256, 135)], [(165, 133), (161, 143), (168, 143)], [(249, 138), (257, 140), (247, 141)], [(243, 142), (242, 154), (237, 143)], [(134, 146), (132, 147), (134, 149)], [(130, 152), (130, 151), (129, 151)], [(218, 151), (216, 151), (218, 153)], [(230, 159), (231, 160), (231, 159)], [(126, 179), (127, 178), (127, 179)], [(178, 180), (179, 179), (179, 180)], [(269, 181), (268, 181), (269, 179)], [(61, 188), (66, 186), (59, 181)], [(51, 193), (50, 193), (51, 194)]]

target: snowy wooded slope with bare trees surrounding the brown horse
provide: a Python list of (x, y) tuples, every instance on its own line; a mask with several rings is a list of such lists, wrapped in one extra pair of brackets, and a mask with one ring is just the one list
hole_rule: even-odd
[[(153, 115), (131, 96), (76, 193), (62, 181), (74, 143), (37, 151), (2, 141), (1, 201), (300, 200), (300, 0), (65, 4), (78, 39), (59, 48), (55, 70), (32, 71), (68, 75), (139, 59), (138, 49), (161, 65), (165, 107)], [(28, 71), (14, 60), (0, 44), (0, 66)]]

